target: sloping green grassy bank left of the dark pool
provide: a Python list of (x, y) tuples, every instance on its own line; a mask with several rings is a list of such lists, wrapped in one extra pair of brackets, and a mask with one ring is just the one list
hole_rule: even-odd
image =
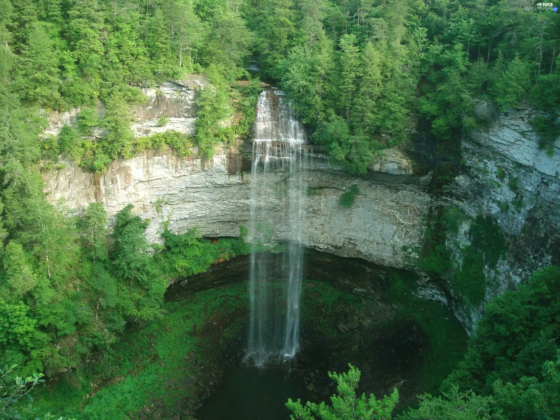
[[(124, 420), (129, 412), (136, 414), (158, 397), (172, 407), (184, 397), (185, 390), (169, 389), (165, 381), (196, 375), (190, 362), (184, 360), (190, 351), (202, 361), (210, 357), (200, 352), (197, 329), (217, 314), (227, 317), (247, 306), (245, 283), (165, 302), (164, 318), (130, 330), (118, 349), (108, 351), (103, 361), (91, 361), (87, 368), (66, 375), (57, 386), (45, 386), (37, 394), (36, 407), (80, 420)], [(244, 321), (243, 317), (229, 316), (223, 342), (239, 336)], [(113, 384), (84, 399), (92, 391), (90, 382), (99, 380)]]

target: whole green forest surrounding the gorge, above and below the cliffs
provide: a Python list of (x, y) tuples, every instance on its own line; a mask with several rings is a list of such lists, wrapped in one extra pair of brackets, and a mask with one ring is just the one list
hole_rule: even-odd
[[(365, 172), (384, 148), (418, 133), (453, 144), (516, 106), (534, 110), (531, 124), (551, 155), (560, 133), (560, 14), (534, 6), (0, 0), (0, 418), (21, 418), (11, 393), (21, 396), (25, 379), (14, 390), (12, 376), (37, 384), (33, 374), (53, 377), (109, 354), (127, 325), (161, 319), (171, 279), (250, 252), (244, 230), (209, 241), (165, 229), (163, 245), (148, 244), (149, 221), (132, 206), (111, 231), (102, 204), (69, 216), (45, 200), (41, 170), (62, 156), (101, 173), (146, 148), (186, 156), (198, 147), (211, 157), (253, 122), (260, 83), (246, 69), (250, 59), (286, 92), (312, 142), (350, 172)], [(197, 92), (194, 136), (135, 138), (132, 110), (146, 102), (140, 87), (193, 73), (209, 81)], [(75, 107), (77, 128), (42, 134), (46, 111)], [(223, 127), (232, 115), (236, 124)], [(92, 136), (95, 127), (107, 136)], [(559, 293), (550, 267), (494, 300), (443, 396), (424, 395), (403, 416), (560, 417)]]

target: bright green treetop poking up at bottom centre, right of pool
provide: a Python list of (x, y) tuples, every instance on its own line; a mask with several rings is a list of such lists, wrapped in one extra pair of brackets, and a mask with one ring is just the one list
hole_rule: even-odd
[(347, 373), (340, 375), (329, 372), (330, 379), (337, 382), (338, 393), (338, 395), (330, 397), (332, 406), (326, 405), (324, 402), (315, 404), (309, 401), (304, 406), (300, 399), (293, 402), (288, 398), (286, 407), (293, 412), (290, 418), (292, 420), (390, 419), (396, 403), (399, 402), (399, 391), (395, 388), (390, 396), (385, 395), (380, 400), (376, 400), (373, 394), (370, 395), (370, 398), (366, 398), (365, 393), (358, 398), (356, 388), (360, 382), (360, 370), (352, 365), (349, 367), (350, 370)]

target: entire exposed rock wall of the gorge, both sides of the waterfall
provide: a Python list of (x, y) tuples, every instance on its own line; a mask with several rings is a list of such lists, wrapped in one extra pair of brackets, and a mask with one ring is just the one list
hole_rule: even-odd
[[(165, 129), (192, 133), (196, 83), (189, 83), (170, 82), (144, 91), (148, 105), (136, 111), (133, 129), (137, 136)], [(157, 125), (157, 118), (164, 114), (170, 118), (169, 127)], [(72, 113), (58, 117), (52, 117), (49, 132), (53, 134), (62, 128), (60, 121), (72, 124), (75, 120)], [(478, 214), (491, 215), (505, 232), (507, 253), (496, 268), (485, 271), (486, 300), (534, 269), (560, 262), (560, 148), (557, 142), (552, 156), (540, 150), (530, 118), (529, 109), (518, 109), (498, 116), (487, 130), (473, 130), (461, 144), (458, 175), (443, 185), (438, 183), (437, 153), (426, 140), (385, 151), (362, 176), (329, 165), (324, 155), (309, 147), (305, 245), (414, 269), (433, 209), (456, 207), (465, 217), (459, 232), (448, 233), (445, 241), (456, 265), (461, 264), (459, 250), (469, 244), (469, 225)], [(196, 150), (186, 157), (169, 150), (148, 150), (113, 162), (104, 174), (63, 162), (60, 169), (43, 173), (44, 192), (51, 202), (63, 203), (74, 213), (83, 212), (91, 202), (103, 202), (110, 218), (133, 204), (139, 216), (151, 220), (149, 242), (161, 241), (166, 221), (178, 233), (197, 227), (207, 237), (237, 236), (249, 220), (250, 151), (250, 139), (222, 146), (209, 160)], [(276, 192), (263, 197), (268, 211), (262, 222), (277, 239), (291, 239), (279, 199), (286, 180), (275, 181)], [(340, 206), (340, 194), (353, 184), (360, 192), (353, 206)], [(424, 283), (430, 282), (421, 277)], [(454, 295), (451, 281), (440, 279), (439, 290), (424, 291), (431, 290), (432, 298), (449, 300)], [(483, 306), (465, 306), (459, 299), (450, 304), (471, 330)]]

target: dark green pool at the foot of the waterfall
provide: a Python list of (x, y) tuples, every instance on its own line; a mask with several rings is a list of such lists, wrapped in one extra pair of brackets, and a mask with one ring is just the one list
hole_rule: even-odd
[(290, 410), (284, 405), (288, 398), (301, 398), (307, 391), (282, 372), (259, 367), (233, 368), (223, 383), (197, 410), (200, 420), (288, 420)]

